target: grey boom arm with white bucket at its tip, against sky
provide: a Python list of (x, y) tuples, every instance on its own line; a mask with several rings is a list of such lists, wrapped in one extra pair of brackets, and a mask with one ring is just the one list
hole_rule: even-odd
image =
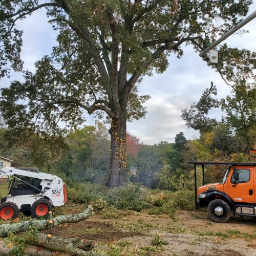
[(242, 22), (240, 22), (236, 27), (230, 29), (228, 32), (226, 32), (219, 39), (214, 41), (210, 46), (208, 46), (206, 49), (204, 49), (199, 54), (199, 56), (202, 57), (203, 60), (206, 60), (208, 65), (216, 65), (218, 63), (218, 51), (217, 50), (211, 50), (211, 49), (216, 47), (217, 45), (219, 45), (222, 41), (224, 41), (226, 38), (228, 38), (234, 32), (241, 29), (245, 24), (249, 23), (255, 17), (256, 17), (256, 11), (254, 11), (248, 17), (243, 19)]

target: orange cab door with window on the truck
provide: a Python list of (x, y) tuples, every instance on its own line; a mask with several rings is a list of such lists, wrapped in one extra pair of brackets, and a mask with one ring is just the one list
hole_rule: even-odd
[(254, 203), (255, 189), (253, 166), (237, 166), (238, 184), (234, 183), (234, 168), (231, 168), (228, 177), (228, 195), (237, 203)]

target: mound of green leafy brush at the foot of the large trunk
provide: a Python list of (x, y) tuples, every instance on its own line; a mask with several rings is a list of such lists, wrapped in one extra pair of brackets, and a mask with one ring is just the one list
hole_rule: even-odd
[(126, 184), (122, 187), (111, 189), (108, 193), (108, 202), (119, 209), (140, 211), (146, 206), (140, 185)]

